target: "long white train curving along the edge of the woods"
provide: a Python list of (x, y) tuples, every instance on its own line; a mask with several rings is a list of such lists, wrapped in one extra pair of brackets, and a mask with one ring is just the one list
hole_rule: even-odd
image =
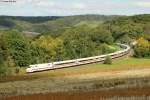
[(96, 62), (102, 62), (105, 60), (107, 56), (111, 56), (112, 59), (116, 59), (124, 55), (127, 55), (129, 53), (130, 46), (125, 44), (119, 44), (119, 43), (117, 45), (119, 45), (122, 48), (122, 50), (114, 53), (94, 56), (94, 57), (30, 65), (29, 68), (26, 69), (26, 72), (32, 73), (32, 72), (38, 72), (38, 71), (44, 71), (50, 69), (59, 69), (59, 68), (73, 67), (79, 65), (86, 65), (86, 64), (96, 63)]

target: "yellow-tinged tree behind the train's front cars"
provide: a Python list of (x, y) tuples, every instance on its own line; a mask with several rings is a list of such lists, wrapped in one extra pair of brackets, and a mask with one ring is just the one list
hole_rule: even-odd
[(34, 63), (46, 63), (63, 60), (64, 45), (63, 39), (52, 38), (51, 36), (41, 36), (31, 43), (32, 58)]

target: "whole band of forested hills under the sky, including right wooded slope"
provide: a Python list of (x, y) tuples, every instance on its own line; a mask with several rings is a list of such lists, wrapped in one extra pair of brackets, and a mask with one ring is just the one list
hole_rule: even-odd
[(150, 34), (150, 14), (135, 16), (0, 16), (0, 31), (16, 29), (27, 35), (39, 35), (40, 33), (57, 37), (72, 27), (80, 26), (105, 28), (113, 33), (115, 40), (123, 38), (122, 41), (126, 41), (130, 40), (128, 35), (135, 37), (140, 33)]

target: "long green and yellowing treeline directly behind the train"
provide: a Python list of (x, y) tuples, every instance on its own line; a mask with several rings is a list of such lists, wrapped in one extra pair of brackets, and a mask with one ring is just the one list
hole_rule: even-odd
[(16, 30), (1, 34), (0, 50), (8, 66), (28, 66), (114, 52), (113, 37), (102, 29), (85, 26), (66, 30), (62, 36), (53, 38), (41, 35), (28, 38)]

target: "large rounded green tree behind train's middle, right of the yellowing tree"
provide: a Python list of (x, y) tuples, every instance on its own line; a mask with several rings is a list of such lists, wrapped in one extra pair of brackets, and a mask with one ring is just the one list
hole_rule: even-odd
[(90, 28), (85, 26), (71, 28), (64, 33), (64, 48), (68, 59), (93, 55), (95, 43), (91, 40), (90, 33)]

